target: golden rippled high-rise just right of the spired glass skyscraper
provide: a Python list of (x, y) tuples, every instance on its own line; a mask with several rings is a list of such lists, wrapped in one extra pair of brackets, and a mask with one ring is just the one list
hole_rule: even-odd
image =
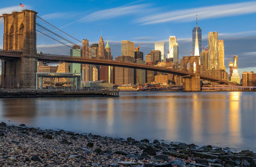
[(218, 54), (218, 32), (208, 33), (209, 59), (207, 60), (208, 69), (220, 69), (220, 60)]

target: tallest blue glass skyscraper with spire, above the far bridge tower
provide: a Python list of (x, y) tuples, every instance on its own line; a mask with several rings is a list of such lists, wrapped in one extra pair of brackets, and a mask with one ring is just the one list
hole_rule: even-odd
[(200, 56), (202, 52), (202, 29), (198, 27), (196, 15), (196, 27), (192, 30), (192, 52), (193, 55)]

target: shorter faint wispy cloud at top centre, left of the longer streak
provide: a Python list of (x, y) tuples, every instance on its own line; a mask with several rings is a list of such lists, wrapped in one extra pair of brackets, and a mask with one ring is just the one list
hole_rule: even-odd
[(79, 19), (80, 22), (92, 22), (96, 20), (109, 19), (120, 17), (124, 15), (136, 15), (143, 13), (143, 11), (149, 10), (148, 4), (133, 4), (126, 6), (118, 6), (116, 8), (109, 8), (106, 10), (95, 11), (85, 17)]

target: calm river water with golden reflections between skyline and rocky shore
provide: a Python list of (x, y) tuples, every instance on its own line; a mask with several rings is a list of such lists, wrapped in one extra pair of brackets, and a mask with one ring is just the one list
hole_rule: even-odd
[(256, 92), (0, 99), (0, 120), (42, 129), (256, 150)]

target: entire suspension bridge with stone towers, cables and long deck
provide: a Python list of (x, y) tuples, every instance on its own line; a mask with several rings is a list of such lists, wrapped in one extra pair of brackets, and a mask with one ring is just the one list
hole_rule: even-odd
[[(17, 82), (20, 82), (20, 86), (22, 88), (35, 88), (38, 61), (75, 62), (81, 64), (97, 64), (102, 66), (117, 66), (171, 73), (173, 75), (184, 76), (183, 86), (184, 90), (187, 91), (199, 91), (200, 80), (209, 80), (211, 82), (218, 82), (226, 85), (232, 84), (223, 78), (207, 76), (200, 73), (200, 61), (198, 56), (183, 57), (183, 67), (180, 69), (172, 69), (134, 62), (92, 59), (86, 56), (86, 52), (88, 52), (88, 50), (86, 51), (85, 49), (82, 50), (82, 55), (84, 55), (82, 57), (56, 54), (56, 52), (37, 52), (39, 40), (37, 39), (38, 34), (44, 36), (44, 38), (49, 38), (50, 40), (58, 42), (59, 45), (65, 45), (66, 47), (70, 47), (70, 45), (77, 45), (77, 43), (84, 46), (86, 43), (76, 40), (76, 38), (58, 29), (58, 27), (55, 27), (43, 18), (38, 17), (36, 11), (14, 11), (10, 14), (3, 14), (0, 20), (3, 21), (4, 25), (3, 50), (0, 50), (0, 59), (2, 63), (1, 87), (6, 86), (4, 82), (8, 80), (8, 78), (15, 78)], [(45, 23), (47, 27), (42, 25), (42, 23)], [(62, 34), (66, 34), (70, 38), (75, 39), (77, 43), (67, 40), (67, 38), (55, 33), (56, 31), (60, 31)], [(51, 34), (51, 36), (49, 34)], [(65, 43), (63, 41), (65, 41)], [(88, 46), (84, 46), (83, 48), (86, 47)], [(193, 66), (188, 67), (188, 64), (196, 64), (196, 68)]]

